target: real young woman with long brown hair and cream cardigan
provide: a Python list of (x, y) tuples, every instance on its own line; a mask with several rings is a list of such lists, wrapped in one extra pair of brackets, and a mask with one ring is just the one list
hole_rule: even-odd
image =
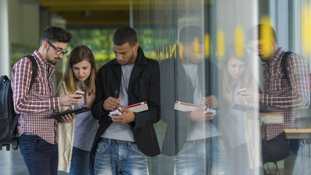
[[(70, 53), (65, 74), (56, 94), (85, 94), (79, 104), (61, 107), (61, 111), (86, 106), (91, 109), (95, 99), (96, 64), (92, 51), (84, 45), (76, 46)], [(90, 150), (97, 131), (97, 121), (91, 111), (75, 115), (74, 122), (58, 124), (58, 170), (68, 175), (92, 175)]]

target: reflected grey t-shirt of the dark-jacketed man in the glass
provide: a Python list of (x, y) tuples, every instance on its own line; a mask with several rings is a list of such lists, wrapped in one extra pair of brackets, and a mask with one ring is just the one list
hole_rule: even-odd
[[(184, 68), (187, 78), (191, 81), (194, 94), (193, 94), (193, 103), (196, 105), (200, 105), (203, 93), (201, 90), (198, 73), (197, 72), (197, 64), (182, 64), (182, 67)], [(208, 82), (206, 82), (208, 83)], [(196, 122), (196, 124), (193, 126), (192, 130), (187, 135), (187, 141), (191, 140), (199, 140), (199, 139), (205, 139), (209, 137), (218, 136), (219, 133), (217, 131), (217, 128), (211, 123), (211, 122)]]

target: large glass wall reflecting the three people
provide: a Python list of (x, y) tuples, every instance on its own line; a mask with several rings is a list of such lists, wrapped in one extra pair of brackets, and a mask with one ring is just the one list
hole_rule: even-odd
[[(291, 50), (309, 68), (310, 9), (308, 0), (134, 0), (139, 44), (161, 68), (162, 120), (155, 129), (162, 154), (149, 159), (151, 175), (260, 175), (275, 166), (298, 175), (308, 165), (311, 155), (300, 155), (301, 141), (308, 140), (298, 139), (310, 139), (299, 130), (310, 128), (309, 70), (294, 74), (306, 78), (301, 90), (304, 83), (295, 78), (297, 85), (288, 87), (281, 67), (268, 74), (271, 61), (263, 55), (270, 50), (267, 57), (282, 53), (280, 59), (282, 48)], [(276, 42), (253, 42), (267, 38)], [(271, 101), (265, 102), (267, 94)], [(305, 104), (296, 106), (298, 99)], [(200, 106), (216, 115), (203, 114)], [(280, 140), (283, 145), (273, 144)]]

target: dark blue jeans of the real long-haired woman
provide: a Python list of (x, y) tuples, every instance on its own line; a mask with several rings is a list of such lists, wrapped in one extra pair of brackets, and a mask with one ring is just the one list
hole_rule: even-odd
[(70, 171), (68, 175), (93, 175), (90, 152), (72, 148)]

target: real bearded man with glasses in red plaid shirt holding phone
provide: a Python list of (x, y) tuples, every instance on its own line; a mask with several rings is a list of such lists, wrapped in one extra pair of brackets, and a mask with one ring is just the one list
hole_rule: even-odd
[[(81, 101), (75, 99), (81, 95), (54, 96), (54, 65), (68, 52), (70, 38), (71, 34), (60, 27), (51, 26), (43, 31), (40, 48), (33, 52), (37, 73), (30, 91), (33, 76), (30, 59), (19, 59), (12, 69), (14, 110), (20, 115), (17, 125), (19, 149), (30, 175), (57, 175), (57, 122), (47, 116), (60, 106), (72, 106)], [(72, 121), (71, 116), (63, 117), (65, 123)]]

